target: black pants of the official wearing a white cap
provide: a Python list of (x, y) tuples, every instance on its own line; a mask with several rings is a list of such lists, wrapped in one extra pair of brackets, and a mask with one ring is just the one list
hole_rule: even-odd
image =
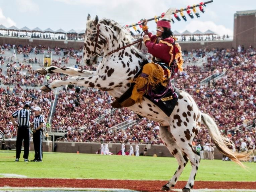
[(42, 161), (43, 159), (43, 131), (38, 130), (33, 133), (33, 142), (35, 148), (35, 159), (37, 161)]

